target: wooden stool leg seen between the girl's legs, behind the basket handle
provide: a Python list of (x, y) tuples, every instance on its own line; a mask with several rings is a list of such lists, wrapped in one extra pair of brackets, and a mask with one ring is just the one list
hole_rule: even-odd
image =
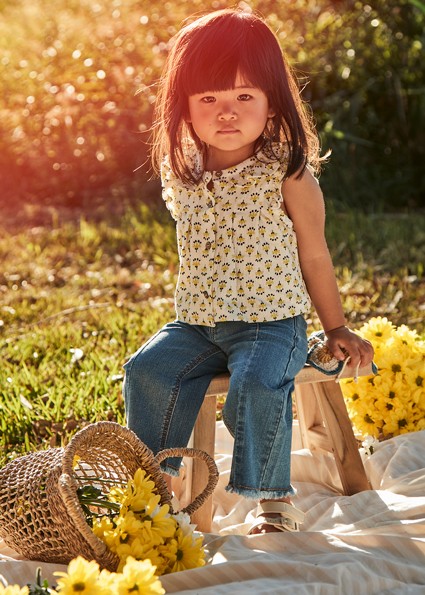
[[(199, 448), (214, 458), (215, 450), (215, 421), (217, 398), (207, 396), (198, 414), (193, 430), (193, 448)], [(205, 488), (208, 482), (208, 469), (199, 459), (193, 459), (191, 498), (194, 500)], [(198, 531), (211, 532), (212, 496), (192, 515), (192, 523), (197, 525)]]

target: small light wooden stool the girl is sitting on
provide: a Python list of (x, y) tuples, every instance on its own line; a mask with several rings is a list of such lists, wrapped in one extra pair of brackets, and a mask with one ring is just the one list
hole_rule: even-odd
[[(372, 367), (360, 368), (359, 376), (373, 374)], [(342, 378), (351, 378), (352, 369), (345, 368)], [(229, 374), (216, 376), (210, 383), (193, 431), (193, 447), (214, 457), (217, 396), (227, 394)], [(360, 458), (358, 443), (353, 434), (344, 397), (335, 376), (328, 376), (305, 366), (295, 378), (294, 391), (297, 417), (303, 448), (322, 449), (333, 453), (344, 494), (350, 496), (369, 490)], [(202, 462), (193, 461), (191, 496), (205, 487), (207, 477)], [(199, 531), (211, 531), (212, 497), (192, 516)]]

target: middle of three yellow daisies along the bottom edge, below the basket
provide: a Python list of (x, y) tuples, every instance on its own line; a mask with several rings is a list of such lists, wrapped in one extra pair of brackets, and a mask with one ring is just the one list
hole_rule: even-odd
[(57, 589), (62, 595), (103, 595), (104, 590), (98, 583), (99, 573), (97, 562), (88, 562), (78, 556), (71, 560), (67, 572), (56, 571), (53, 574), (59, 577)]

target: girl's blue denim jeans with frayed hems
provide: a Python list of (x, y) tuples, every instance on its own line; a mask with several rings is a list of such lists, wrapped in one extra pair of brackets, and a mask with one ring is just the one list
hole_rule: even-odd
[[(154, 453), (186, 446), (211, 379), (228, 370), (223, 420), (234, 450), (226, 489), (255, 499), (289, 496), (291, 395), (306, 355), (302, 316), (166, 324), (124, 366), (127, 424)], [(163, 469), (176, 475), (180, 463), (168, 459)]]

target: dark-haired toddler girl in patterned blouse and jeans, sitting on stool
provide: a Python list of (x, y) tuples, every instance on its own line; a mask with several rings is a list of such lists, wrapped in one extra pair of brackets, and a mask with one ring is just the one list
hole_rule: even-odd
[(125, 364), (128, 425), (155, 453), (185, 446), (211, 379), (229, 371), (227, 490), (260, 502), (251, 533), (298, 530), (291, 394), (311, 302), (337, 359), (367, 365), (373, 349), (345, 324), (314, 177), (318, 139), (262, 19), (221, 10), (178, 33), (152, 153), (177, 226), (177, 318)]

